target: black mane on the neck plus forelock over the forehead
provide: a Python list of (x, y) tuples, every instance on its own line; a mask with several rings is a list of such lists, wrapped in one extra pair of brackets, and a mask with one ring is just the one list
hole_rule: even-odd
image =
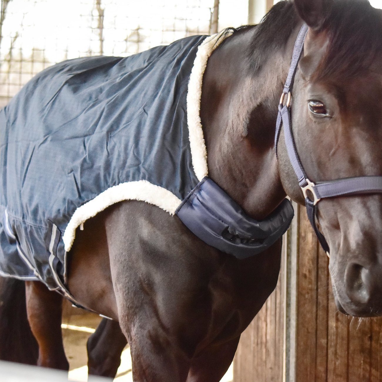
[[(293, 1), (283, 0), (276, 3), (259, 24), (227, 28), (225, 32), (232, 31), (233, 36), (237, 36), (254, 30), (246, 52), (251, 74), (266, 65), (272, 52), (286, 46), (299, 23), (301, 19)], [(382, 51), (382, 18), (368, 0), (335, 0), (323, 29), (329, 44), (315, 79), (359, 74)]]

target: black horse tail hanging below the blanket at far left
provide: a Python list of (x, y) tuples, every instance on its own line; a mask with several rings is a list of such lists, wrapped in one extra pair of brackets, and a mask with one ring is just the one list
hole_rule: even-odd
[(36, 365), (38, 345), (26, 313), (25, 283), (0, 277), (0, 360)]

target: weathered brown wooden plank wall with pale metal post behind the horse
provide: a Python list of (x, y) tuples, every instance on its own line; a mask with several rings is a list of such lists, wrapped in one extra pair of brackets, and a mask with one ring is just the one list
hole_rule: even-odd
[[(283, 261), (275, 292), (242, 335), (234, 381), (382, 381), (382, 319), (337, 311), (329, 259), (305, 209), (296, 212), (284, 251), (290, 258)], [(294, 285), (295, 295), (288, 293)]]

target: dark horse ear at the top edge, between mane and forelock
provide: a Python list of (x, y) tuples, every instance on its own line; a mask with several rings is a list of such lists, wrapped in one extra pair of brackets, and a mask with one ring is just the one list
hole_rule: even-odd
[(332, 5), (333, 0), (295, 0), (299, 16), (315, 31), (324, 25)]

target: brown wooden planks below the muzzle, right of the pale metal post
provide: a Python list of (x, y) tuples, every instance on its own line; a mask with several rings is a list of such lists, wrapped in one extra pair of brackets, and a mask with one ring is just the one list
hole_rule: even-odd
[(382, 319), (361, 320), (337, 311), (329, 259), (304, 208), (299, 220), (296, 381), (382, 381)]

